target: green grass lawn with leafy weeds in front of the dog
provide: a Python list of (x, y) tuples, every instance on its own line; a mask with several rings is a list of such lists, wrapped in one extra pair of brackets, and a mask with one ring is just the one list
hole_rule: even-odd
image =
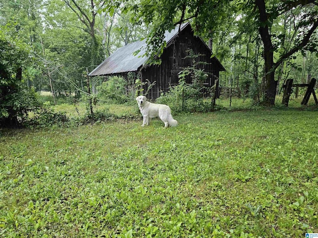
[(318, 233), (317, 112), (174, 118), (0, 130), (0, 237)]

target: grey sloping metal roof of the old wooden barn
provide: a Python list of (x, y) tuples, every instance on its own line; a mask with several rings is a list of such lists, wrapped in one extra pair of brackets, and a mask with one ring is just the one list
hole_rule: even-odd
[[(180, 26), (182, 31), (190, 23), (184, 23)], [(178, 35), (179, 26), (176, 26), (172, 31), (165, 31), (164, 41), (169, 43)], [(137, 71), (141, 66), (144, 66), (147, 57), (143, 56), (146, 53), (146, 40), (137, 41), (117, 49), (111, 56), (100, 63), (89, 76), (106, 75), (113, 73), (123, 73)], [(134, 52), (140, 51), (136, 56)]]

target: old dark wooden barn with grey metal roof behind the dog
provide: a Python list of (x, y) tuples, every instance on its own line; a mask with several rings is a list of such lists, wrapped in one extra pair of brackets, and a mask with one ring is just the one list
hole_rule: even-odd
[[(212, 52), (204, 41), (200, 37), (194, 36), (190, 23), (182, 24), (180, 31), (179, 26), (176, 26), (171, 32), (166, 31), (164, 40), (166, 48), (160, 57), (160, 65), (146, 64), (148, 58), (143, 57), (143, 55), (147, 45), (146, 41), (143, 40), (119, 48), (91, 71), (89, 76), (120, 75), (127, 80), (128, 75), (134, 72), (135, 75), (139, 75), (142, 82), (146, 79), (151, 83), (156, 82), (147, 95), (148, 98), (154, 100), (160, 96), (161, 92), (167, 92), (170, 86), (177, 85), (179, 81), (178, 73), (192, 64), (191, 59), (184, 59), (189, 49), (192, 49), (194, 54), (203, 55), (197, 59), (198, 62), (207, 62), (207, 64), (199, 65), (201, 69), (204, 68), (206, 72), (212, 73), (217, 78), (219, 78), (220, 71), (225, 71), (216, 57), (211, 58)], [(135, 56), (134, 52), (137, 51), (140, 52)], [(215, 78), (209, 76), (204, 85), (206, 87), (213, 86)], [(219, 90), (216, 90), (216, 92), (219, 92)]]

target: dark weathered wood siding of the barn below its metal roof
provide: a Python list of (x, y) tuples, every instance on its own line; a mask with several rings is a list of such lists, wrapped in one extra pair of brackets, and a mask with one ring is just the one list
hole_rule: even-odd
[[(192, 64), (191, 59), (184, 59), (187, 56), (186, 51), (188, 49), (192, 49), (194, 54), (203, 55), (199, 59), (196, 59), (197, 62), (208, 62), (208, 64), (198, 65), (198, 68), (204, 68), (206, 72), (219, 77), (221, 70), (220, 63), (215, 58), (211, 59), (211, 52), (207, 45), (193, 35), (189, 25), (187, 29), (180, 32), (172, 43), (164, 49), (160, 65), (148, 66), (142, 70), (142, 81), (145, 82), (146, 79), (150, 82), (156, 81), (156, 85), (153, 86), (147, 95), (148, 98), (155, 100), (161, 93), (167, 92), (171, 86), (178, 84), (178, 73)], [(187, 78), (186, 81), (187, 83), (191, 83), (190, 78)], [(209, 75), (204, 85), (211, 87), (214, 84), (215, 77)]]

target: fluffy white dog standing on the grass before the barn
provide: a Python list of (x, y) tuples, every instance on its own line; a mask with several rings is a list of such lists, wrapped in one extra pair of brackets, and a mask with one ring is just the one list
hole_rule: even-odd
[(178, 124), (178, 122), (172, 118), (169, 106), (147, 102), (147, 98), (145, 96), (138, 96), (136, 100), (138, 102), (140, 112), (144, 117), (144, 123), (142, 126), (149, 125), (150, 120), (157, 117), (164, 122), (164, 128), (168, 126), (176, 126)]

